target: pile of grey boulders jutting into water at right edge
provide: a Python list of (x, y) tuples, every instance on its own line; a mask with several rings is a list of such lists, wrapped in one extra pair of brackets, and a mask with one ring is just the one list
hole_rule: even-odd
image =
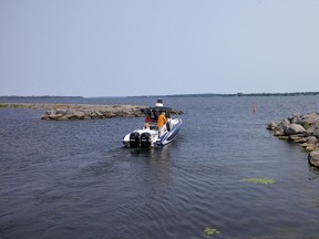
[(294, 114), (281, 122), (271, 122), (267, 129), (280, 139), (299, 144), (308, 152), (308, 162), (319, 167), (319, 113)]

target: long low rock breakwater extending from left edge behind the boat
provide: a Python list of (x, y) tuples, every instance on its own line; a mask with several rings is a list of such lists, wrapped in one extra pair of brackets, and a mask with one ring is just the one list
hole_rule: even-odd
[[(111, 117), (143, 117), (142, 105), (92, 105), (92, 104), (42, 104), (42, 103), (0, 103), (0, 107), (32, 108), (47, 111), (41, 119), (97, 119)], [(172, 114), (183, 114), (182, 111), (172, 110)]]

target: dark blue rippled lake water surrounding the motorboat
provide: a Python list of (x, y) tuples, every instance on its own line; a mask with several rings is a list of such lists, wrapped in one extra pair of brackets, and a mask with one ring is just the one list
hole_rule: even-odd
[[(318, 112), (318, 96), (163, 100), (185, 112), (184, 124), (152, 150), (122, 147), (143, 118), (55, 122), (41, 121), (43, 111), (0, 108), (0, 238), (319, 238), (319, 172), (301, 147), (266, 129)], [(275, 184), (241, 181), (265, 177)]]

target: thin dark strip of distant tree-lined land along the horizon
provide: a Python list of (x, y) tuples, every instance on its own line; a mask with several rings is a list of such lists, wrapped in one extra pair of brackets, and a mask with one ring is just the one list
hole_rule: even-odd
[(240, 96), (305, 96), (319, 95), (319, 92), (291, 92), (291, 93), (236, 93), (236, 94), (169, 94), (169, 95), (136, 95), (136, 96), (54, 96), (54, 95), (39, 95), (39, 96), (19, 96), (19, 95), (3, 95), (0, 98), (114, 98), (114, 97), (240, 97)]

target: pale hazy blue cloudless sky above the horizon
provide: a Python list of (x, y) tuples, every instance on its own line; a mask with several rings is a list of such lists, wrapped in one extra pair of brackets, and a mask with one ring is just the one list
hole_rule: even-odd
[(0, 0), (0, 95), (319, 91), (318, 0)]

